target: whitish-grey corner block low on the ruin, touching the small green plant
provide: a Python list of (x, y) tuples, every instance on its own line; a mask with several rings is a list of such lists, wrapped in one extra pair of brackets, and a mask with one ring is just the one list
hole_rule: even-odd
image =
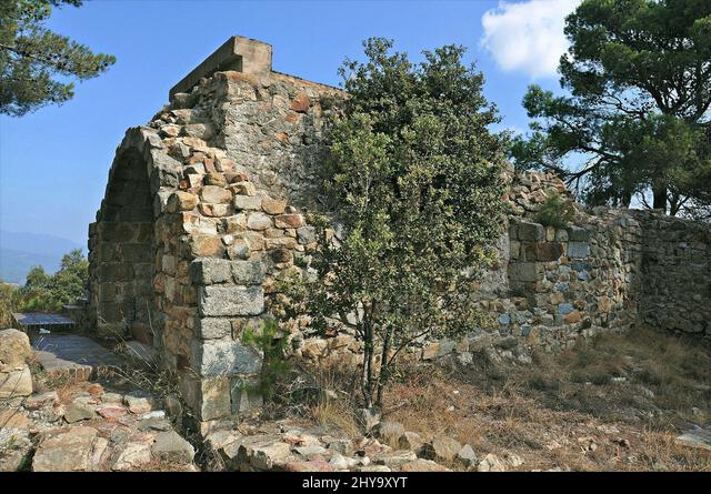
[(256, 374), (261, 372), (262, 355), (232, 340), (193, 342), (193, 369), (200, 375)]

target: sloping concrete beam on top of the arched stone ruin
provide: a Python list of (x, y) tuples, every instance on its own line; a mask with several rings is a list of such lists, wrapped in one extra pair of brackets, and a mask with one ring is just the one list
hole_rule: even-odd
[(259, 40), (233, 36), (173, 85), (169, 100), (179, 92), (189, 92), (201, 78), (217, 71), (236, 70), (243, 73), (262, 74), (271, 71), (271, 44)]

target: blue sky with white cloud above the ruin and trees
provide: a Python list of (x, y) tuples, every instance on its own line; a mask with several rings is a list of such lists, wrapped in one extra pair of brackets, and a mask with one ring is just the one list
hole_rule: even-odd
[(0, 230), (48, 233), (86, 244), (88, 224), (127, 128), (148, 122), (168, 90), (230, 36), (273, 46), (273, 68), (338, 84), (344, 57), (371, 36), (423, 49), (469, 47), (503, 127), (523, 130), (529, 83), (558, 88), (562, 18), (577, 0), (193, 1), (94, 0), (54, 11), (48, 27), (112, 53), (117, 63), (78, 83), (76, 97), (20, 119), (0, 117)]

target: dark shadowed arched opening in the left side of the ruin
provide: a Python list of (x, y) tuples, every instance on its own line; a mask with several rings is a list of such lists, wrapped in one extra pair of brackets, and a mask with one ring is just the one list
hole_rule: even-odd
[(147, 163), (137, 150), (117, 155), (90, 243), (90, 291), (99, 335), (130, 334), (152, 344), (153, 208)]

